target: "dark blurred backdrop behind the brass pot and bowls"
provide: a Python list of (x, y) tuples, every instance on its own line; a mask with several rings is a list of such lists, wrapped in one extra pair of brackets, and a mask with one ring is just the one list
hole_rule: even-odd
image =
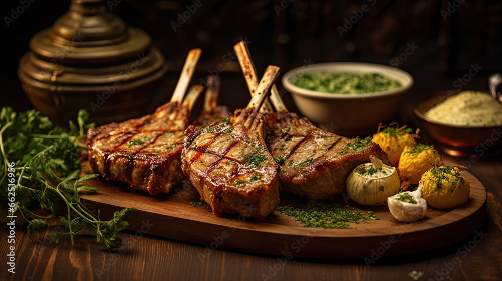
[[(203, 50), (193, 83), (218, 74), (220, 103), (232, 110), (244, 107), (249, 96), (232, 54), (241, 39), (248, 42), (260, 73), (268, 64), (280, 66), (285, 73), (307, 62), (337, 61), (379, 63), (408, 71), (415, 84), (403, 111), (396, 112), (402, 122), (413, 118), (408, 114), (410, 104), (432, 91), (459, 85), (463, 90), (487, 90), (488, 75), (500, 71), (502, 63), (500, 1), (201, 0), (200, 7), (193, 0), (105, 3), (130, 26), (149, 33), (166, 57), (168, 71), (152, 95), (150, 110), (170, 98), (191, 48)], [(6, 16), (20, 2), (3, 1), (2, 106), (33, 108), (17, 77), (19, 59), (29, 50), (30, 38), (50, 27), (69, 4), (69, 0), (33, 0), (23, 14), (7, 23)], [(469, 81), (459, 81), (473, 65), (480, 71)], [(283, 98), (291, 111), (297, 110), (288, 93)], [(199, 103), (198, 108), (202, 99)]]

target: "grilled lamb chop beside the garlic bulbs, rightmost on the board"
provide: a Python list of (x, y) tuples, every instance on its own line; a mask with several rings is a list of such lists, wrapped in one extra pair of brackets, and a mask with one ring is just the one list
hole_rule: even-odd
[[(250, 93), (254, 93), (255, 66), (245, 42), (234, 47)], [(346, 191), (345, 181), (359, 164), (373, 155), (391, 165), (378, 144), (326, 132), (307, 118), (289, 113), (277, 89), (271, 89), (270, 100), (278, 112), (269, 112), (266, 144), (281, 166), (281, 190), (309, 199), (331, 199)]]

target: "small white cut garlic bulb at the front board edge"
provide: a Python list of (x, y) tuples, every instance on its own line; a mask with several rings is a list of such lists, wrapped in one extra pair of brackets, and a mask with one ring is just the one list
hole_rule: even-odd
[(387, 205), (392, 216), (403, 222), (413, 222), (425, 217), (427, 201), (422, 198), (423, 182), (420, 181), (417, 190), (405, 191), (387, 198)]

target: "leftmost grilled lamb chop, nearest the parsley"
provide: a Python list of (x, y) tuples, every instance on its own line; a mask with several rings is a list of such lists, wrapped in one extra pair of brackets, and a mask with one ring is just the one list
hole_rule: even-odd
[(200, 49), (189, 52), (171, 101), (155, 113), (88, 130), (88, 157), (94, 172), (105, 180), (126, 182), (152, 195), (169, 193), (181, 181), (183, 131), (203, 87), (192, 87), (181, 101), (200, 52)]

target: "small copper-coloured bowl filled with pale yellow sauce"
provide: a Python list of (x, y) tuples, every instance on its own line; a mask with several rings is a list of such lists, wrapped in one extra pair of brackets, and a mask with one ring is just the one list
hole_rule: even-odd
[(451, 155), (473, 159), (502, 144), (502, 103), (482, 91), (441, 91), (418, 103), (414, 113)]

